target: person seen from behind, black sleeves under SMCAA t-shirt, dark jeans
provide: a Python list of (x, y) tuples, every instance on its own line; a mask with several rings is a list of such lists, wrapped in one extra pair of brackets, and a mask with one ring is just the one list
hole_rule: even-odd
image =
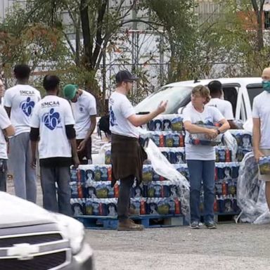
[(43, 206), (52, 212), (71, 215), (70, 165), (73, 163), (77, 167), (79, 159), (75, 139), (75, 120), (70, 103), (58, 97), (59, 84), (60, 79), (57, 76), (44, 77), (43, 86), (47, 95), (37, 103), (31, 119), (32, 167), (36, 165), (39, 141)]

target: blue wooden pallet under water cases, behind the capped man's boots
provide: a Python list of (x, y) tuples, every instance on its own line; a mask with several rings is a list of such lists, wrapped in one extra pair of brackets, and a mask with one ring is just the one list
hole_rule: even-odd
[[(160, 228), (188, 225), (184, 216), (179, 215), (141, 215), (130, 217), (137, 224), (142, 224), (145, 228)], [(81, 221), (86, 229), (117, 229), (117, 217), (108, 216), (76, 216), (75, 219)]]

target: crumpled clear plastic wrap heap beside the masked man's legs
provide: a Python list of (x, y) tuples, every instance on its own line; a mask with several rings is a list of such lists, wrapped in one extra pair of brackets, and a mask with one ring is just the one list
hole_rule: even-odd
[(265, 182), (258, 179), (259, 168), (254, 154), (245, 155), (240, 165), (237, 183), (237, 203), (242, 222), (264, 224), (270, 222), (270, 213), (265, 198)]

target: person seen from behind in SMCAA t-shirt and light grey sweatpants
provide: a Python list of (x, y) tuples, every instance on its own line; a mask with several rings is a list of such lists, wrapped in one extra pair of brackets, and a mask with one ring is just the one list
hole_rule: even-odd
[(17, 84), (6, 90), (4, 106), (15, 128), (9, 139), (8, 171), (13, 174), (15, 195), (35, 203), (37, 199), (37, 174), (31, 167), (30, 118), (34, 105), (41, 99), (39, 91), (28, 83), (28, 65), (16, 65)]

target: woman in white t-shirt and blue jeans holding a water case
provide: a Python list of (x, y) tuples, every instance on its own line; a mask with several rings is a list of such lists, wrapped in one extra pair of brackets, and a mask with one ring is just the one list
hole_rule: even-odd
[[(214, 107), (205, 106), (210, 101), (210, 91), (207, 87), (195, 86), (191, 94), (192, 105), (184, 110), (184, 127), (186, 129), (186, 160), (191, 181), (191, 228), (200, 226), (200, 189), (203, 180), (204, 189), (204, 221), (209, 229), (216, 228), (214, 223), (214, 161), (213, 146), (193, 145), (190, 134), (206, 134), (209, 139), (216, 138), (230, 128), (223, 115)], [(199, 127), (196, 123), (219, 123), (219, 129)]]

